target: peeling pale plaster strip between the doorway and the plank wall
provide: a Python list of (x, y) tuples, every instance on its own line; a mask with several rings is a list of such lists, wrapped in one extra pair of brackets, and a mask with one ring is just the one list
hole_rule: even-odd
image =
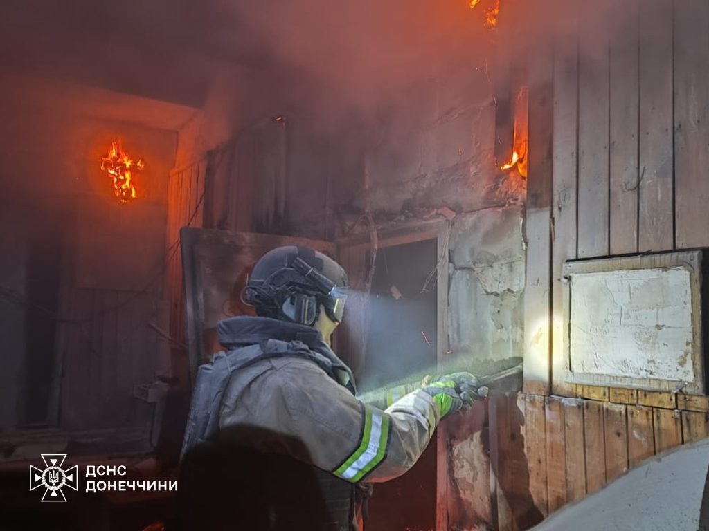
[[(451, 355), (487, 374), (521, 361), (525, 246), (523, 206), (457, 215), (450, 235), (448, 331)], [(486, 404), (448, 421), (447, 525), (493, 528)]]

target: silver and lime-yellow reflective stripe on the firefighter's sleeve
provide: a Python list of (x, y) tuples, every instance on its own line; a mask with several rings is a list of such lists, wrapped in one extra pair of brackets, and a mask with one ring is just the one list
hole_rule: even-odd
[(369, 406), (364, 406), (362, 441), (352, 455), (333, 474), (356, 483), (372, 472), (386, 455), (389, 443), (389, 416)]

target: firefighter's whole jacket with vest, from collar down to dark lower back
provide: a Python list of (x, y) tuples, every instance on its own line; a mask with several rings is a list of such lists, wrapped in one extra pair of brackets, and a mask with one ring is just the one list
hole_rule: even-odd
[[(196, 459), (183, 459), (191, 480), (181, 479), (181, 484), (201, 492), (201, 498), (211, 504), (202, 511), (213, 517), (211, 528), (218, 528), (214, 515), (224, 506), (212, 493), (239, 483), (233, 480), (223, 489), (216, 487), (215, 479), (221, 475), (213, 470), (225, 470), (228, 449), (240, 447), (250, 457), (244, 460), (242, 454), (242, 461), (235, 465), (240, 472), (226, 475), (244, 476), (245, 470), (253, 468), (261, 471), (250, 474), (258, 479), (247, 481), (252, 498), (244, 506), (259, 504), (263, 496), (255, 496), (255, 491), (285, 500), (276, 503), (275, 510), (267, 508), (277, 518), (256, 527), (357, 529), (358, 487), (393, 479), (413, 466), (440, 420), (437, 403), (419, 389), (386, 409), (364, 404), (357, 399), (349, 367), (309, 326), (239, 316), (221, 321), (218, 335), (228, 352), (219, 353), (199, 369), (183, 456), (204, 443), (211, 450), (191, 452)], [(264, 459), (264, 455), (271, 457)], [(210, 464), (215, 462), (219, 464)], [(210, 475), (205, 476), (207, 469)], [(286, 487), (294, 477), (299, 486)], [(212, 489), (211, 494), (206, 494), (204, 485)], [(281, 496), (283, 492), (289, 494)], [(234, 503), (235, 498), (227, 506), (233, 508)], [(316, 518), (313, 507), (319, 505), (323, 505), (323, 516)], [(193, 509), (190, 515), (199, 513)], [(298, 513), (313, 520), (298, 520)], [(194, 528), (204, 525), (200, 518)]]

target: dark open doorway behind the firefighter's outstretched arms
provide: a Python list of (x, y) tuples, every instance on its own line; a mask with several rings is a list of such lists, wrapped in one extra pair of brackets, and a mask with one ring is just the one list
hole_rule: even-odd
[[(372, 278), (362, 388), (434, 372), (437, 360), (437, 241), (379, 249)], [(436, 445), (406, 474), (377, 484), (365, 531), (428, 531), (436, 522)]]

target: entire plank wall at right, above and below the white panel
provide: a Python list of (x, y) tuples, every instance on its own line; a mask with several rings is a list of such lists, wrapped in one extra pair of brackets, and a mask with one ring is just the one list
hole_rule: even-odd
[[(576, 22), (557, 37), (550, 59), (551, 155), (532, 135), (543, 130), (535, 122), (545, 120), (543, 106), (530, 108), (530, 368), (522, 394), (490, 399), (491, 489), (500, 530), (526, 529), (643, 459), (709, 436), (707, 397), (566, 383), (560, 319), (568, 304), (566, 260), (709, 246), (709, 2), (647, 0), (641, 9), (639, 0), (574, 0), (564, 6)], [(599, 15), (600, 25), (594, 23)], [(579, 20), (583, 28), (575, 30)], [(534, 93), (530, 87), (530, 102)], [(543, 210), (547, 164), (550, 237)], [(545, 314), (548, 328), (540, 333)], [(550, 348), (532, 348), (530, 339), (545, 334)]]

